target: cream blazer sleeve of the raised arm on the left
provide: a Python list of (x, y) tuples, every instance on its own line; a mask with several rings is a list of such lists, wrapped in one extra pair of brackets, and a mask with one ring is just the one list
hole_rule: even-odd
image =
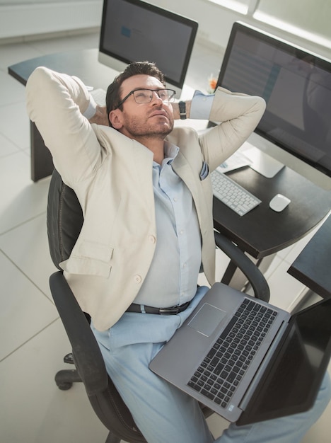
[(83, 116), (90, 103), (86, 86), (76, 77), (45, 67), (33, 71), (26, 85), (27, 110), (55, 168), (66, 183), (89, 176), (101, 161), (101, 149), (93, 128)]

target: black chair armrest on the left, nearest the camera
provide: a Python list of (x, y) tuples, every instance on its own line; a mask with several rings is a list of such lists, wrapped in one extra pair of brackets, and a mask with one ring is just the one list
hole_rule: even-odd
[(108, 374), (98, 342), (61, 271), (50, 276), (50, 289), (70, 340), (79, 376), (88, 396), (93, 396), (108, 386)]

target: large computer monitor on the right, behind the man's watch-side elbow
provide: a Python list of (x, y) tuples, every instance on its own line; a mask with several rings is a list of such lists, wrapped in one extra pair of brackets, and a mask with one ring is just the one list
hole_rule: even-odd
[(248, 142), (268, 155), (261, 154), (262, 161), (253, 155), (252, 168), (264, 173), (264, 160), (271, 157), (331, 189), (330, 60), (236, 22), (217, 86), (267, 102)]

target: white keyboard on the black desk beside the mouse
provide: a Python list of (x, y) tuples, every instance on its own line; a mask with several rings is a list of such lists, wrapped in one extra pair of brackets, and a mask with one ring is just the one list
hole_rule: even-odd
[(261, 200), (255, 195), (217, 170), (211, 173), (211, 183), (214, 196), (224, 205), (233, 209), (240, 217), (261, 203)]

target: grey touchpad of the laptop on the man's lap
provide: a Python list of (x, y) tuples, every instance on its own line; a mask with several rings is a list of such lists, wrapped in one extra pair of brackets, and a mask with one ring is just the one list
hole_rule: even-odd
[(225, 315), (226, 311), (222, 311), (221, 309), (216, 308), (216, 306), (205, 303), (195, 314), (190, 323), (188, 323), (188, 326), (209, 337), (223, 320)]

